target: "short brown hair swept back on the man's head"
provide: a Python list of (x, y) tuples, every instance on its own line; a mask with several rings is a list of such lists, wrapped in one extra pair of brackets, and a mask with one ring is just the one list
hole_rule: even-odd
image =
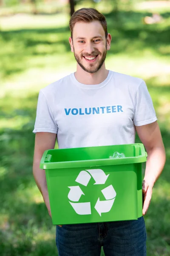
[(108, 29), (107, 29), (107, 22), (105, 19), (105, 16), (102, 15), (102, 13), (98, 12), (94, 8), (82, 8), (74, 12), (74, 14), (71, 16), (69, 26), (71, 30), (71, 38), (73, 38), (73, 29), (76, 22), (82, 21), (82, 22), (92, 22), (98, 20), (104, 31), (105, 31), (105, 37), (108, 36)]

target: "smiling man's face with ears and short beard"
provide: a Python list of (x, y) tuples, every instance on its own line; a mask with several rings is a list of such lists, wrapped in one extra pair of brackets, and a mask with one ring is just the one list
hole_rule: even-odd
[(73, 38), (69, 41), (71, 51), (83, 70), (95, 73), (102, 67), (107, 53), (107, 41), (99, 21), (77, 22), (73, 29)]

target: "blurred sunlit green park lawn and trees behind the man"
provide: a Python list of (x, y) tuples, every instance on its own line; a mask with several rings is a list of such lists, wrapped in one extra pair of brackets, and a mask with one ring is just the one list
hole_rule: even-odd
[(170, 256), (170, 1), (140, 0), (0, 0), (0, 256), (57, 256), (32, 175), (32, 130), (39, 90), (76, 69), (70, 4), (106, 16), (106, 68), (147, 83), (167, 154), (144, 216), (147, 256)]

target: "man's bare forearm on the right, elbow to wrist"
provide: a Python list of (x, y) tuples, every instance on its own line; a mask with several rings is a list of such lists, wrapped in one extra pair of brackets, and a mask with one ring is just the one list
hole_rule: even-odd
[[(147, 149), (147, 148), (146, 148)], [(164, 146), (147, 149), (147, 162), (144, 180), (153, 187), (156, 180), (161, 175), (165, 164)]]

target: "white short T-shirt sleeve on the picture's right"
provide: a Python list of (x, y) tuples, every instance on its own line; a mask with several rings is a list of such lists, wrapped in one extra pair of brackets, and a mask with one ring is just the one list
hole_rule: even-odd
[(133, 123), (136, 126), (148, 125), (157, 120), (153, 102), (145, 82), (139, 85), (135, 95), (135, 114)]

